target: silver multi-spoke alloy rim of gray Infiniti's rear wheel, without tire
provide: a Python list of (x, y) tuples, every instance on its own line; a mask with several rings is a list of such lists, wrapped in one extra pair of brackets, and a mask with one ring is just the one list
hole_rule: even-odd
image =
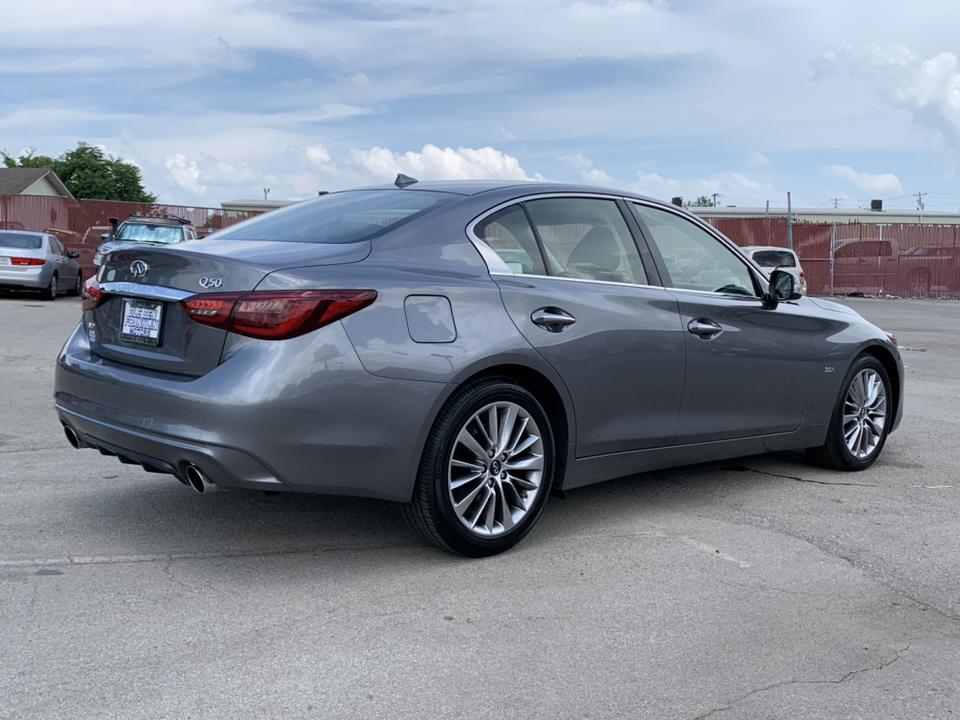
[(450, 454), (447, 488), (470, 532), (509, 532), (533, 507), (543, 478), (540, 428), (520, 405), (485, 405), (460, 428)]

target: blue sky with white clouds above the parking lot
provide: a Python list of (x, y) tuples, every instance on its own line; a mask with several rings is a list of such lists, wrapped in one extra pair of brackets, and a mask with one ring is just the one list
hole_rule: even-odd
[(32, 0), (0, 149), (83, 140), (167, 203), (420, 179), (960, 210), (956, 0)]

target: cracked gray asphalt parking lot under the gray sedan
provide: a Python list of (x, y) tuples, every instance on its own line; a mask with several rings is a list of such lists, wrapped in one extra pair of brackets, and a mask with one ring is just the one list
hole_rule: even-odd
[(960, 303), (849, 302), (908, 373), (873, 469), (618, 480), (469, 561), (388, 503), (72, 450), (78, 302), (0, 297), (0, 717), (960, 716)]

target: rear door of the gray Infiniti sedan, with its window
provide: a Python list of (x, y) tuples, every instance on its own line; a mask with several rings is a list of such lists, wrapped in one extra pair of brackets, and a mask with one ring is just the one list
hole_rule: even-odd
[(579, 457), (676, 440), (678, 303), (631, 226), (600, 196), (529, 199), (471, 226), (507, 312), (570, 392)]

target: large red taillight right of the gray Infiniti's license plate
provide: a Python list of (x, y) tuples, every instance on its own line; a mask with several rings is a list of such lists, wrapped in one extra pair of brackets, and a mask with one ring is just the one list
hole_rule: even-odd
[(305, 335), (367, 307), (376, 290), (209, 293), (181, 302), (196, 322), (262, 340)]

